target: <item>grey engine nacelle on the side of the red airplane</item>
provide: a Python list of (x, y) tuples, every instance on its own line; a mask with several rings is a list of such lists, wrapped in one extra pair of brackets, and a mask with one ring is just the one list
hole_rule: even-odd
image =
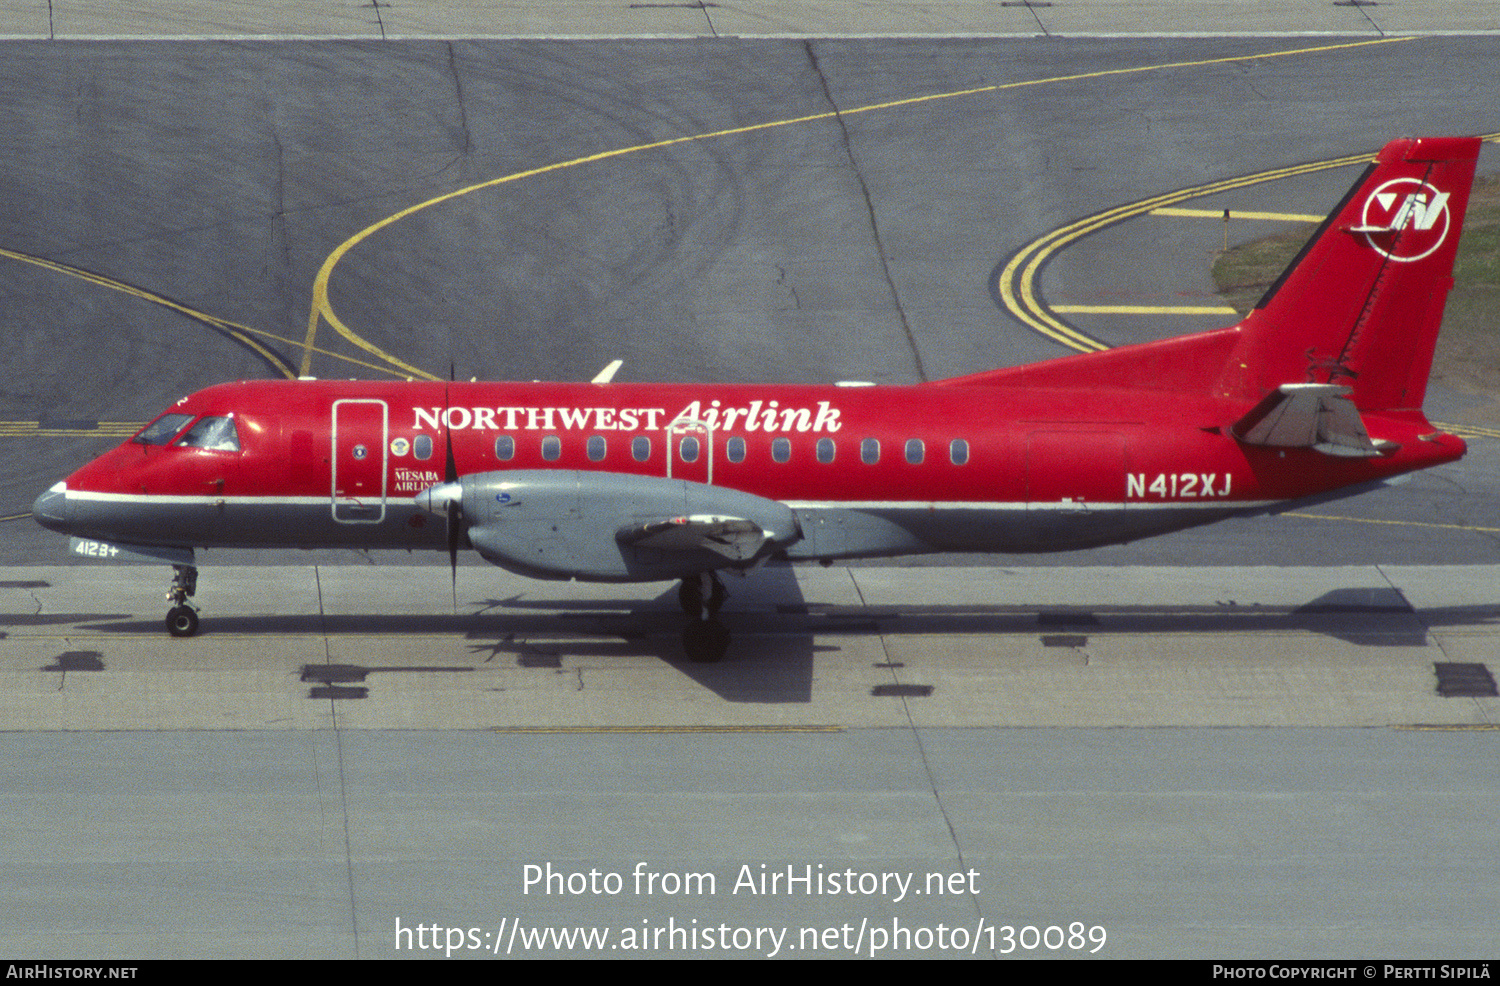
[(687, 578), (748, 567), (801, 537), (782, 503), (681, 479), (518, 470), (474, 473), (459, 486), (474, 549), (532, 578)]

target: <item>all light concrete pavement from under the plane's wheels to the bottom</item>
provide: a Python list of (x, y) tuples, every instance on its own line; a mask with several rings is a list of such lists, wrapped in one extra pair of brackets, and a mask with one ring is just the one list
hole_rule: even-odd
[(30, 954), (1492, 948), (1488, 566), (766, 570), (717, 665), (652, 587), (220, 569), (168, 639), (122, 572), (0, 590)]

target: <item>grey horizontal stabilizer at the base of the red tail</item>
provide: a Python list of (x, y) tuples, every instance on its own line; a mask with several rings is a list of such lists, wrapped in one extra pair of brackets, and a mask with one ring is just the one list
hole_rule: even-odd
[(1324, 455), (1372, 456), (1394, 452), (1392, 441), (1371, 441), (1359, 410), (1340, 384), (1281, 384), (1234, 422), (1236, 438), (1251, 446), (1316, 449)]

